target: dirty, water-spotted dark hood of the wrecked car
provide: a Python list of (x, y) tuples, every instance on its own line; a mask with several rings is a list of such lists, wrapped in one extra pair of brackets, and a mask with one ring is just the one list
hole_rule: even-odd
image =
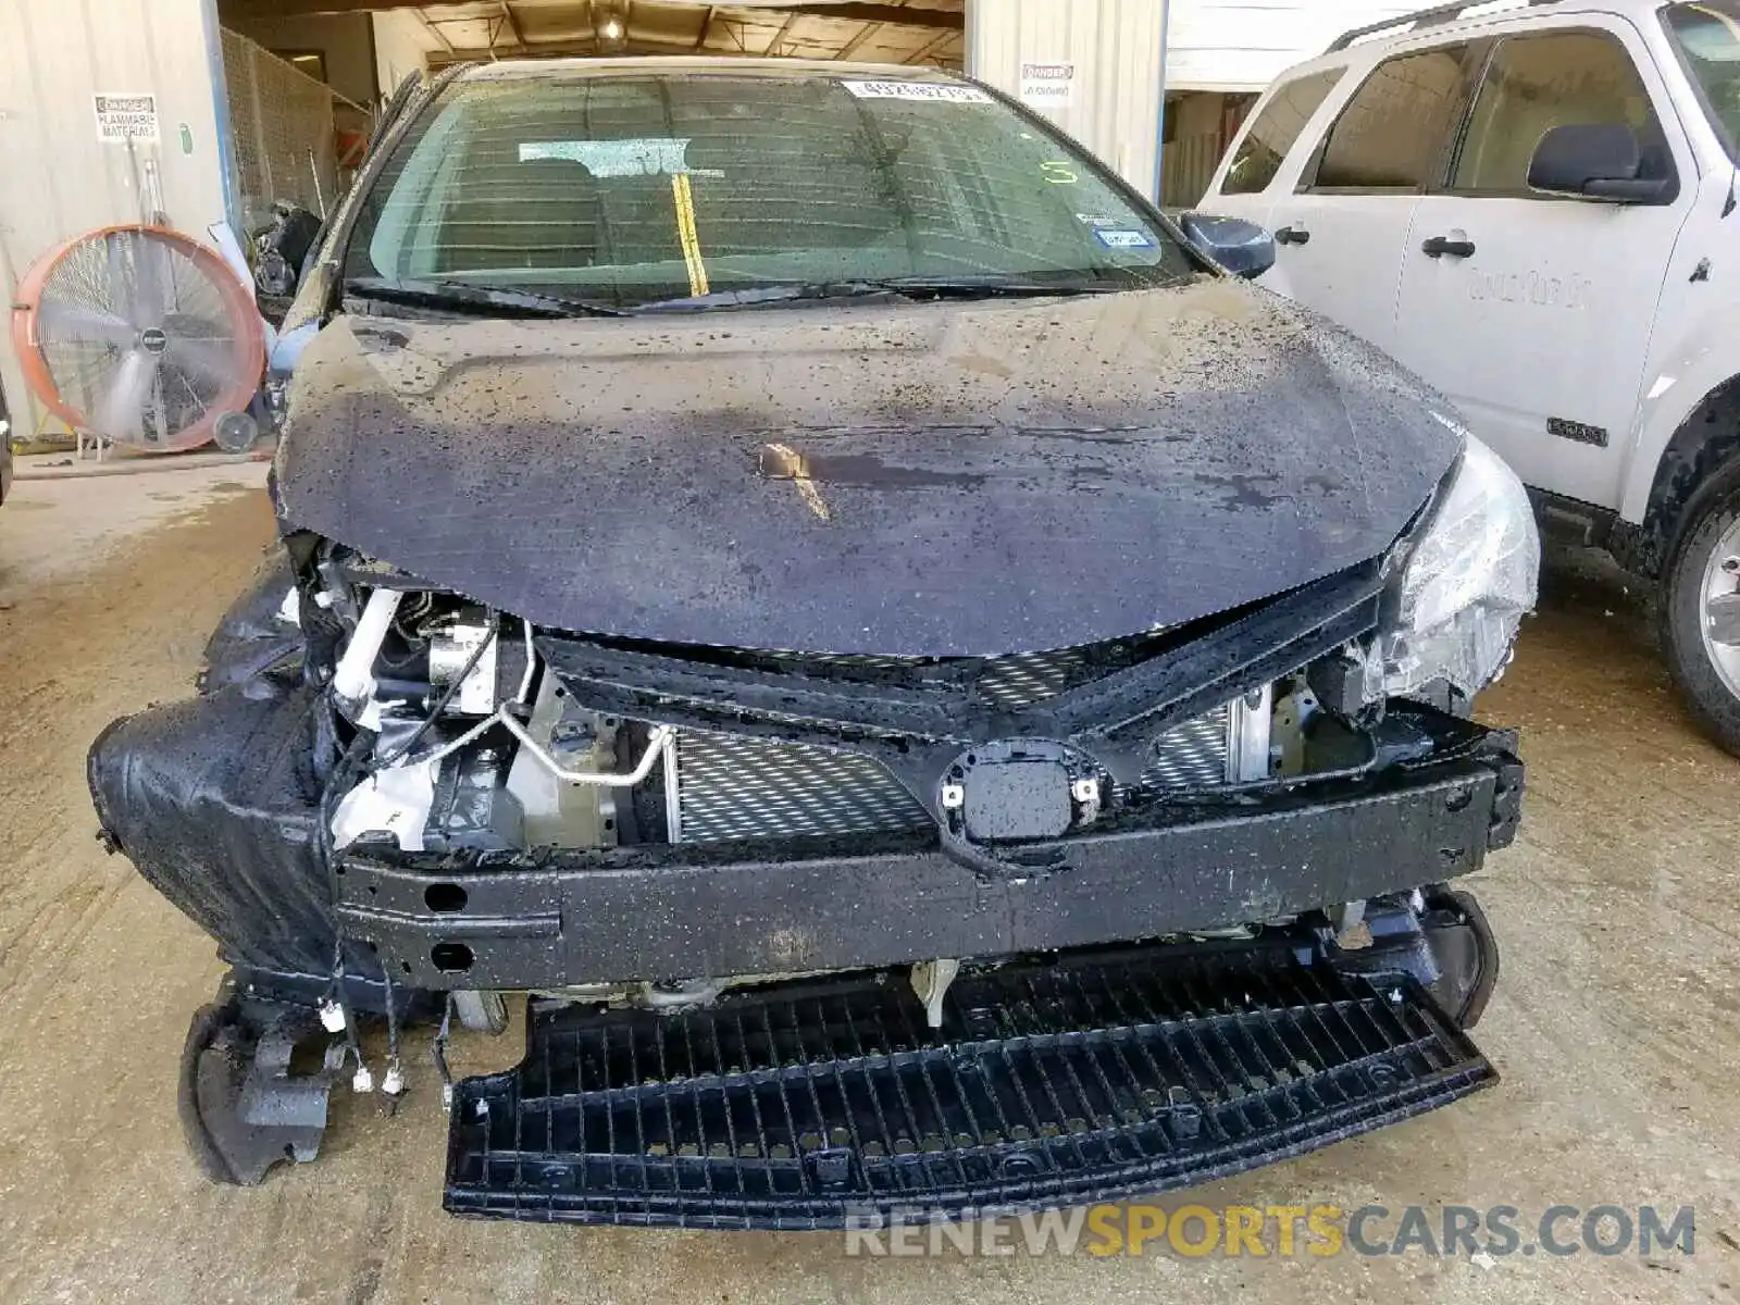
[(303, 353), (280, 522), (572, 632), (981, 656), (1235, 607), (1390, 546), (1444, 400), (1242, 282), (416, 322)]

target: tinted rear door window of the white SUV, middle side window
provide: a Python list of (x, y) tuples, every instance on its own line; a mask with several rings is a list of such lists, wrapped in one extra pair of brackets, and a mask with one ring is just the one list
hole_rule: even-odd
[(1317, 190), (1422, 190), (1462, 108), (1467, 44), (1385, 59), (1324, 139)]

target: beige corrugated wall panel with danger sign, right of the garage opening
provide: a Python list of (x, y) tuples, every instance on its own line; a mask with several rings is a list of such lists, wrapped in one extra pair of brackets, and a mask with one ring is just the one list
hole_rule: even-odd
[(1020, 94), (1023, 63), (1075, 64), (1070, 104), (1042, 111), (1155, 195), (1164, 33), (1166, 0), (969, 0), (967, 71)]

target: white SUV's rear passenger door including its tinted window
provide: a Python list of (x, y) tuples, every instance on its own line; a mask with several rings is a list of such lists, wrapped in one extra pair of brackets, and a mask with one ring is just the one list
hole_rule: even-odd
[(1470, 44), (1394, 54), (1361, 82), (1270, 209), (1263, 284), (1389, 348), (1402, 245), (1462, 118)]

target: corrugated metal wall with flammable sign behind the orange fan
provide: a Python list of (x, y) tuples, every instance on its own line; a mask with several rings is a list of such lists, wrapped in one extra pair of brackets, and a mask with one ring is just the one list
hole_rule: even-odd
[[(162, 209), (204, 235), (224, 218), (224, 169), (204, 0), (0, 0), (0, 282), (52, 245)], [(97, 139), (94, 94), (157, 96), (158, 139)], [(35, 423), (10, 329), (0, 378), (14, 425)]]

